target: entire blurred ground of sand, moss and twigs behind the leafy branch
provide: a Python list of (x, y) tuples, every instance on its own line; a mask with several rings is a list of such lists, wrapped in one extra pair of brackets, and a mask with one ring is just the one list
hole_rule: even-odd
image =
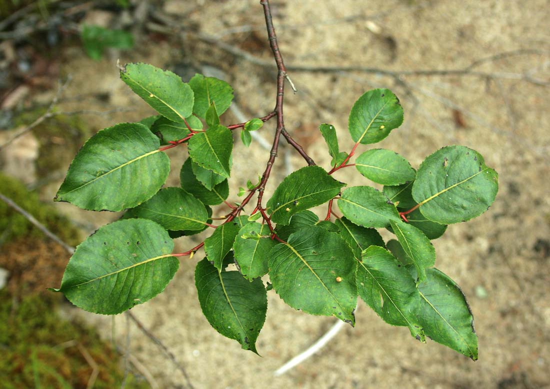
[[(271, 5), (298, 89), (287, 89), (285, 123), (317, 164), (330, 162), (318, 125), (332, 123), (349, 150), (354, 101), (390, 88), (405, 121), (380, 147), (417, 168), (443, 145), (463, 144), (499, 172), (491, 209), (433, 241), (437, 267), (469, 300), (479, 360), (421, 344), (361, 301), (355, 328), (274, 376), (335, 319), (296, 312), (270, 292), (263, 358), (241, 350), (202, 315), (193, 275), (202, 252), (182, 260), (163, 294), (132, 309), (138, 322), (87, 314), (46, 291), (60, 284), (70, 254), (10, 200), (69, 246), (119, 217), (52, 202), (87, 138), (155, 114), (119, 80), (117, 60), (227, 80), (235, 101), (225, 124), (273, 109), (276, 69), (256, 0), (0, 0), (0, 388), (550, 388), (550, 3)], [(273, 131), (269, 122), (250, 148), (235, 139), (232, 201), (263, 171)], [(168, 185), (177, 186), (187, 152), (169, 155)], [(303, 165), (284, 145), (268, 192)], [(347, 170), (338, 178), (362, 185)]]

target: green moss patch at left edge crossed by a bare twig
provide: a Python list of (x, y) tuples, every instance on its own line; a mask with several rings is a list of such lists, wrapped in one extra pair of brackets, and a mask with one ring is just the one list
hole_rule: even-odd
[[(53, 206), (41, 202), (37, 193), (28, 191), (19, 180), (0, 173), (0, 193), (12, 199), (69, 245), (80, 242), (79, 231), (70, 221), (59, 215)], [(36, 239), (43, 236), (23, 215), (0, 201), (0, 246), (22, 237)]]

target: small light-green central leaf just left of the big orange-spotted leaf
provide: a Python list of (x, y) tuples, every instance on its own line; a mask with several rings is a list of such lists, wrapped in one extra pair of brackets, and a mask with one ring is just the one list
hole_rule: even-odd
[[(245, 239), (243, 237), (249, 234), (267, 237), (260, 239)], [(260, 223), (246, 224), (237, 234), (233, 244), (235, 261), (239, 265), (241, 274), (250, 281), (267, 274), (268, 255), (271, 248), (277, 245), (277, 242), (272, 240), (270, 235), (267, 224)]]

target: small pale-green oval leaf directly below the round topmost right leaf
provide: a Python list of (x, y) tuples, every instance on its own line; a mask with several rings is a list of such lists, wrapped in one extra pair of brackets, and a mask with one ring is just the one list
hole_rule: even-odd
[(355, 168), (367, 179), (382, 185), (414, 180), (415, 170), (401, 155), (387, 149), (371, 149), (359, 155)]

